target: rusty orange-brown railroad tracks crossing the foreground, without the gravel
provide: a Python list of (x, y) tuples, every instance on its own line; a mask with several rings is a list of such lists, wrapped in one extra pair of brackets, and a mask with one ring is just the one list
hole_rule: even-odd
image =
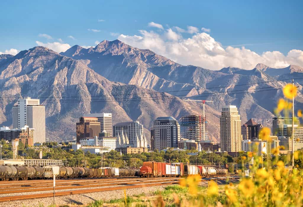
[[(240, 178), (239, 176), (205, 177), (202, 178), (201, 181), (208, 182), (210, 180), (220, 181), (220, 180), (239, 179), (239, 178)], [(59, 183), (56, 182), (57, 186), (55, 189), (61, 191), (55, 192), (55, 196), (68, 196), (68, 195), (91, 193), (91, 192), (103, 192), (103, 191), (112, 191), (112, 190), (121, 190), (121, 189), (172, 185), (172, 184), (178, 184), (180, 179), (182, 178), (152, 178), (152, 179), (140, 178), (134, 180), (115, 179), (115, 178), (92, 179), (92, 180), (58, 180), (62, 182)], [(12, 194), (12, 193), (52, 191), (53, 187), (50, 187), (52, 186), (52, 180), (47, 180), (47, 181), (48, 182), (43, 182), (43, 183), (35, 183), (35, 184), (32, 183), (30, 184), (30, 186), (24, 186), (24, 183), (21, 183), (19, 184), (19, 187), (17, 187), (16, 183), (13, 186), (11, 185), (12, 187), (9, 187), (6, 183), (5, 184), (0, 183), (0, 195), (2, 196), (0, 197), (0, 202), (53, 197), (54, 196), (53, 192), (18, 195), (18, 196), (4, 196), (5, 194)], [(95, 188), (95, 187), (100, 187), (100, 188)], [(80, 188), (86, 188), (86, 189), (80, 189)], [(66, 189), (71, 189), (71, 190), (64, 191)]]

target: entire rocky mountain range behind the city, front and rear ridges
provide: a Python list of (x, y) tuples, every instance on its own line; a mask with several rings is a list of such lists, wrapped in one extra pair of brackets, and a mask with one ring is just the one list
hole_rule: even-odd
[[(88, 49), (75, 45), (60, 54), (34, 47), (16, 56), (0, 55), (0, 71), (2, 125), (12, 125), (15, 99), (24, 95), (42, 97), (46, 136), (50, 138), (75, 136), (75, 122), (89, 112), (109, 112), (113, 123), (140, 121), (148, 129), (158, 116), (179, 119), (182, 115), (202, 113), (200, 103), (180, 99), (196, 96), (192, 99), (214, 101), (207, 104), (206, 115), (209, 135), (219, 141), (219, 117), (225, 105), (238, 107), (242, 124), (254, 118), (270, 126), (273, 108), (283, 96), (281, 90), (273, 89), (282, 88), (290, 80), (268, 81), (281, 79), (302, 78), (296, 79), (300, 93), (295, 107), (303, 108), (303, 69), (299, 66), (274, 69), (258, 64), (252, 70), (228, 67), (213, 71), (183, 66), (119, 40), (104, 40)], [(263, 83), (245, 85), (257, 82)], [(232, 92), (222, 95), (226, 91)], [(145, 132), (149, 136), (148, 130)]]

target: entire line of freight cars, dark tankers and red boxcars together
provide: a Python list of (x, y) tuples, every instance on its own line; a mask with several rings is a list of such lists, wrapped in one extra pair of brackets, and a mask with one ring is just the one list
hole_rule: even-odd
[[(0, 180), (49, 179), (53, 177), (52, 167), (0, 166)], [(141, 177), (179, 177), (199, 174), (206, 176), (225, 176), (227, 169), (183, 163), (143, 162), (140, 169), (118, 167), (60, 167), (58, 179), (98, 178), (119, 176)]]

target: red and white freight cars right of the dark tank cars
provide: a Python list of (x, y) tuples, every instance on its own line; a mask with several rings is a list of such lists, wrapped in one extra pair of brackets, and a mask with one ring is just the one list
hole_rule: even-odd
[(160, 163), (160, 162), (143, 162), (140, 168), (141, 177), (179, 177), (188, 175), (201, 175), (203, 177), (225, 176), (227, 169), (187, 165), (183, 163)]

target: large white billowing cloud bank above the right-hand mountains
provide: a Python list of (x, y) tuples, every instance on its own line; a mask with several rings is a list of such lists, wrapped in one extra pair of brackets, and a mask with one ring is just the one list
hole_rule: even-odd
[[(287, 55), (284, 55), (279, 51), (265, 51), (258, 54), (245, 47), (227, 46), (223, 48), (209, 34), (200, 33), (197, 27), (188, 26), (187, 31), (178, 28), (173, 27), (165, 31), (139, 30), (139, 35), (120, 34), (118, 39), (133, 47), (150, 49), (177, 63), (201, 66), (211, 70), (228, 66), (252, 69), (258, 63), (276, 68), (286, 67), (290, 64), (303, 66), (302, 50), (290, 50)], [(184, 38), (181, 32), (192, 35)]]

